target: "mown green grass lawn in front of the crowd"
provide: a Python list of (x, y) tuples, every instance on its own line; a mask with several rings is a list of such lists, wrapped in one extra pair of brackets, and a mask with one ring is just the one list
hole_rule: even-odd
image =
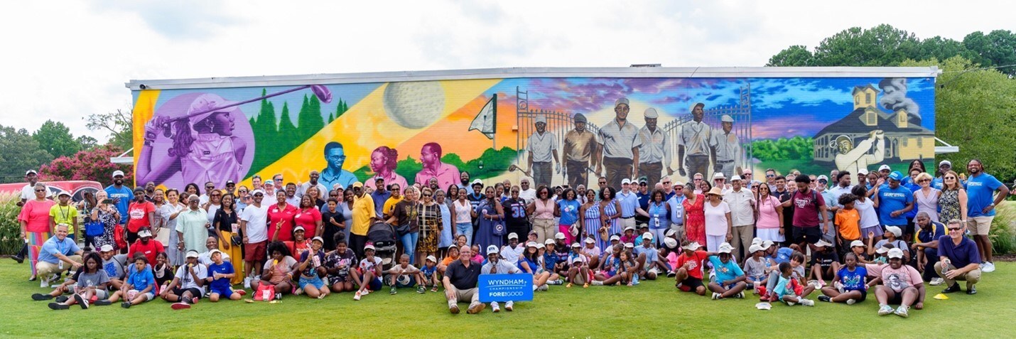
[[(448, 314), (442, 292), (396, 295), (372, 293), (360, 301), (353, 294), (323, 300), (287, 296), (281, 302), (245, 303), (202, 300), (191, 310), (173, 311), (153, 300), (129, 310), (118, 306), (77, 307), (51, 311), (49, 301), (33, 301), (31, 293), (48, 291), (26, 281), (27, 265), (0, 261), (0, 336), (182, 338), (201, 333), (211, 338), (315, 336), (365, 338), (620, 338), (620, 337), (1013, 337), (1016, 325), (1016, 264), (999, 263), (986, 273), (976, 295), (953, 293), (948, 300), (931, 298), (941, 286), (929, 286), (925, 310), (910, 318), (876, 315), (871, 293), (854, 306), (818, 302), (814, 308), (773, 304), (758, 311), (757, 298), (710, 300), (678, 292), (671, 280), (634, 287), (551, 286), (515, 312), (481, 315)], [(810, 297), (815, 298), (817, 294)], [(301, 325), (302, 324), (302, 325)], [(959, 326), (970, 326), (960, 331)], [(184, 332), (181, 332), (184, 331)], [(538, 335), (537, 335), (538, 333)]]

